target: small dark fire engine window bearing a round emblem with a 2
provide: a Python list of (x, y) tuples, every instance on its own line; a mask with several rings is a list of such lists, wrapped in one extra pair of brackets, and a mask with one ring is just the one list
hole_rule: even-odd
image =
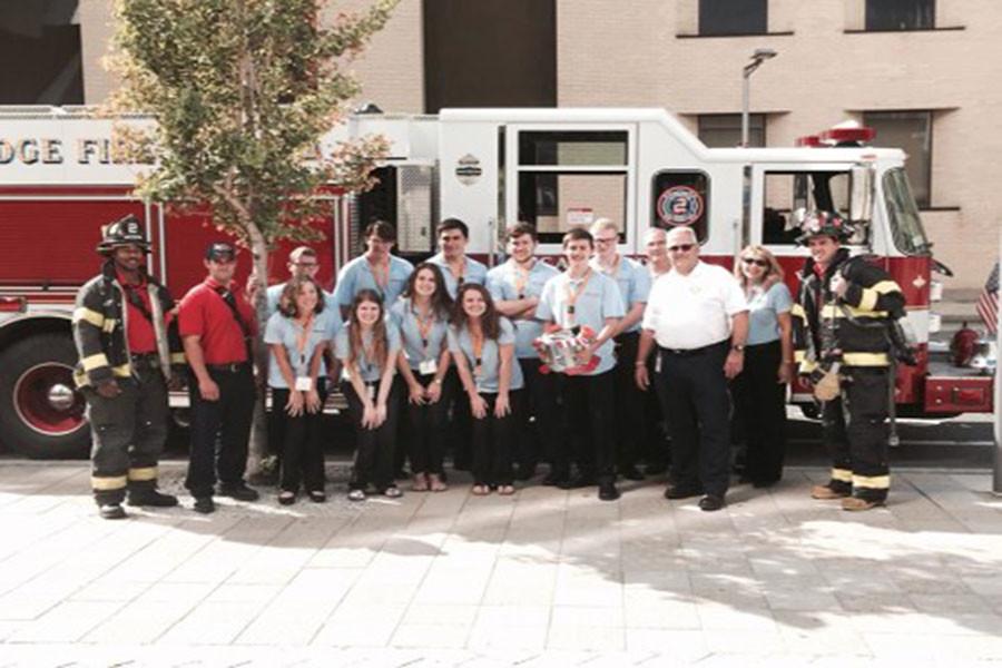
[(650, 226), (691, 227), (700, 243), (709, 225), (709, 178), (701, 171), (661, 171), (654, 176)]

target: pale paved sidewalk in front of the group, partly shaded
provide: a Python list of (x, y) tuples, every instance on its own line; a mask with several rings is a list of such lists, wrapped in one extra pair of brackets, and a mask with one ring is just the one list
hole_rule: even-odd
[(117, 522), (88, 478), (0, 464), (0, 667), (1002, 665), (988, 472), (896, 472), (867, 513), (790, 469), (717, 513), (660, 482), (352, 504), (337, 475), (322, 505)]

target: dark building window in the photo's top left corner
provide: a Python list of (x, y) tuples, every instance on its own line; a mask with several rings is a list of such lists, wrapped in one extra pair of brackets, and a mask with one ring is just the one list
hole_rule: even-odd
[(82, 105), (77, 0), (0, 2), (0, 104)]

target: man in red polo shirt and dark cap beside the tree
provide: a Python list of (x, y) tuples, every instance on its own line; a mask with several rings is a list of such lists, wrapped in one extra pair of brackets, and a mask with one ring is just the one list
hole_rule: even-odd
[(191, 452), (185, 487), (195, 498), (195, 510), (209, 513), (216, 509), (217, 478), (223, 497), (258, 498), (244, 481), (254, 414), (252, 345), (257, 321), (233, 279), (236, 249), (226, 243), (209, 245), (205, 267), (208, 277), (181, 299), (178, 322), (193, 375)]

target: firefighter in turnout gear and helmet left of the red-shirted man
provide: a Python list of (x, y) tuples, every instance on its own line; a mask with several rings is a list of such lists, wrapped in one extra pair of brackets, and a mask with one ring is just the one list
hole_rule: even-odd
[[(157, 491), (157, 460), (167, 440), (167, 387), (185, 361), (174, 301), (145, 271), (149, 242), (135, 216), (102, 228), (101, 273), (77, 294), (75, 377), (88, 404), (91, 488), (105, 519), (129, 505), (170, 507)], [(171, 369), (173, 366), (173, 369)]]

